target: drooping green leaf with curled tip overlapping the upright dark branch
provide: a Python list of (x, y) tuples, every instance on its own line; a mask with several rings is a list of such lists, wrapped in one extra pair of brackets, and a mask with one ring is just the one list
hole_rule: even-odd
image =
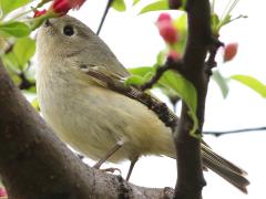
[(166, 71), (158, 83), (175, 92), (186, 103), (190, 109), (188, 114), (194, 124), (191, 135), (200, 138), (198, 135), (195, 134), (198, 128), (198, 121), (196, 117), (197, 94), (194, 85), (181, 74), (172, 71)]

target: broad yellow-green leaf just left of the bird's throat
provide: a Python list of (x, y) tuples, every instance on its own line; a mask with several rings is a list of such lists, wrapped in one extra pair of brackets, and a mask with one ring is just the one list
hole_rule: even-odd
[(28, 36), (19, 39), (13, 46), (13, 52), (19, 65), (23, 67), (35, 52), (35, 41)]

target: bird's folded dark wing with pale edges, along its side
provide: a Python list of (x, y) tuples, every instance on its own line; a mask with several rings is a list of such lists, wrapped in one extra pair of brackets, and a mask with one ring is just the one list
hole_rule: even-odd
[(109, 90), (123, 94), (144, 104), (147, 108), (153, 111), (166, 126), (171, 128), (176, 126), (178, 117), (171, 109), (168, 109), (164, 103), (158, 101), (153, 95), (134, 86), (125, 85), (124, 81), (126, 77), (111, 72), (105, 66), (82, 64), (79, 66), (79, 69), (88, 74), (90, 78), (99, 85), (108, 87)]

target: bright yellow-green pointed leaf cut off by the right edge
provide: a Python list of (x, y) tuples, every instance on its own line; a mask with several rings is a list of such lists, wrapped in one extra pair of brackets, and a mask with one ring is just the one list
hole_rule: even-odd
[(231, 78), (241, 82), (263, 97), (266, 97), (266, 85), (257, 78), (249, 75), (233, 75)]

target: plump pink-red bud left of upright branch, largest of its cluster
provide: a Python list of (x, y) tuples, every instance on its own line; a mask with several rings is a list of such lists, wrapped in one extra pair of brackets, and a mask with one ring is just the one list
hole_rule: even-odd
[(160, 35), (165, 42), (173, 44), (178, 40), (177, 30), (174, 28), (171, 21), (163, 21), (157, 24)]

